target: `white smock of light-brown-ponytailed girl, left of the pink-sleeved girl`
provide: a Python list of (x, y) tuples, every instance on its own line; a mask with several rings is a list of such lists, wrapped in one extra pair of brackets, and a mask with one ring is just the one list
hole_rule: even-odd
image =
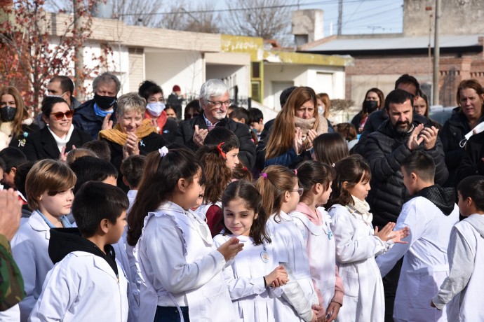
[[(278, 219), (275, 218), (274, 214), (269, 217), (267, 231), (272, 239), (274, 253), (278, 262), (288, 264), (289, 279), (291, 277), (295, 279), (300, 288), (302, 288), (301, 295), (304, 298), (300, 298), (300, 300), (304, 300), (304, 317), (310, 321), (309, 316), (312, 316), (311, 307), (314, 304), (319, 304), (319, 300), (311, 280), (306, 245), (304, 244), (302, 234), (293, 222), (293, 218), (283, 211), (281, 211)], [(286, 286), (283, 286), (283, 290), (285, 288)], [(288, 302), (287, 294), (283, 294), (275, 300), (274, 314), (276, 321), (304, 321), (300, 314), (297, 314), (293, 305)]]

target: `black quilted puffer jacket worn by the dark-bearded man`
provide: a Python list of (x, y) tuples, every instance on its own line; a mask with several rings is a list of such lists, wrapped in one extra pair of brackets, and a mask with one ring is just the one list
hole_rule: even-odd
[[(418, 123), (415, 122), (416, 126)], [(429, 127), (429, 123), (424, 123)], [(401, 134), (394, 130), (390, 120), (386, 120), (376, 132), (368, 135), (365, 145), (365, 159), (370, 163), (372, 179), (368, 203), (373, 213), (373, 225), (383, 226), (389, 221), (396, 222), (402, 205), (410, 199), (408, 190), (403, 185), (401, 162), (410, 151), (406, 143), (411, 132)], [(424, 150), (424, 142), (419, 146)], [(436, 146), (426, 153), (436, 164), (435, 182), (444, 183), (448, 178), (445, 167), (442, 143), (437, 138)]]

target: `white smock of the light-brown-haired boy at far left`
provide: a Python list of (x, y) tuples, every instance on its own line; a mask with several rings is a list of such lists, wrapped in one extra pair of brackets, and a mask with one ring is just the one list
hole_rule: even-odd
[(20, 301), (20, 321), (25, 322), (42, 292), (43, 281), (54, 266), (48, 255), (48, 241), (51, 228), (36, 212), (11, 241), (13, 259), (24, 279), (25, 298)]

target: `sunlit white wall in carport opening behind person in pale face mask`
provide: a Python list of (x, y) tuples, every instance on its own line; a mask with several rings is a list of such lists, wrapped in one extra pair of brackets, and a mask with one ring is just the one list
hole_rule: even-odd
[(161, 86), (165, 97), (173, 85), (182, 89), (187, 97), (199, 96), (205, 81), (204, 62), (201, 52), (145, 52), (146, 78)]

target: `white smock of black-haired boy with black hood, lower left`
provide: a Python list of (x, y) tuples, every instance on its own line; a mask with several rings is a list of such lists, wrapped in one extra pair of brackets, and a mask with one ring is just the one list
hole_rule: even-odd
[(104, 258), (73, 251), (48, 273), (29, 322), (128, 319), (128, 280), (119, 262), (118, 277)]

